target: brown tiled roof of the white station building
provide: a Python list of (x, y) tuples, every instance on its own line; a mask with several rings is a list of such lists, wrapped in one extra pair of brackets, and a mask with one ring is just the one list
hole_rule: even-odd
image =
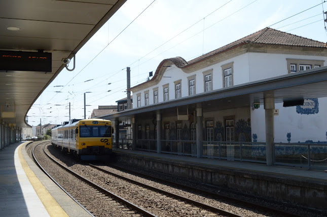
[[(165, 60), (161, 61), (161, 63), (157, 67), (157, 70), (151, 80), (148, 80), (148, 81), (138, 84), (136, 86), (140, 86), (140, 85), (143, 85), (144, 83), (155, 80), (159, 74), (161, 67), (163, 66), (163, 64), (166, 61), (172, 61), (175, 64), (175, 66), (178, 68), (186, 68), (191, 65), (197, 64), (205, 59), (211, 58), (212, 56), (219, 55), (228, 50), (232, 50), (236, 47), (246, 45), (246, 44), (305, 47), (305, 48), (323, 48), (323, 49), (327, 48), (327, 46), (324, 42), (312, 40), (312, 39), (309, 39), (306, 37), (301, 37), (298, 35), (290, 34), (287, 32), (282, 32), (282, 31), (279, 31), (276, 29), (266, 27), (260, 31), (252, 33), (250, 35), (247, 35), (247, 36), (245, 36), (241, 39), (238, 39), (228, 45), (225, 45), (219, 49), (216, 49), (214, 51), (206, 53), (206, 54), (204, 54), (200, 57), (197, 57), (193, 60), (190, 60), (189, 62), (187, 62), (185, 59), (183, 59), (181, 57), (165, 59)], [(135, 88), (136, 86), (133, 86), (132, 88)]]

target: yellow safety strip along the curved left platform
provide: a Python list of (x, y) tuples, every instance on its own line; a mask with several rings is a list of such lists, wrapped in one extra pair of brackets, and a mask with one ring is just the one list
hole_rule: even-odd
[(19, 146), (18, 149), (18, 157), (22, 167), (26, 173), (26, 176), (33, 186), (35, 192), (37, 193), (38, 197), (40, 198), (41, 202), (43, 203), (44, 207), (46, 208), (48, 214), (50, 216), (68, 216), (67, 213), (62, 209), (62, 207), (57, 203), (57, 201), (51, 196), (49, 191), (44, 187), (44, 185), (40, 182), (40, 180), (35, 176), (34, 172), (28, 166), (26, 160), (22, 154), (22, 147), (24, 143)]

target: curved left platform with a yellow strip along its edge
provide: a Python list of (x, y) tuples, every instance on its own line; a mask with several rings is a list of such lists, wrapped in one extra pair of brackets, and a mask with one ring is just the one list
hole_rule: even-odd
[(0, 151), (0, 216), (91, 216), (30, 159), (28, 143)]

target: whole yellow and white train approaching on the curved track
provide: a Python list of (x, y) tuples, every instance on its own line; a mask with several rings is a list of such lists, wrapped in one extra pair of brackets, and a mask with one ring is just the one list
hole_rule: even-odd
[(112, 155), (114, 127), (105, 119), (71, 119), (52, 129), (51, 144), (81, 160)]

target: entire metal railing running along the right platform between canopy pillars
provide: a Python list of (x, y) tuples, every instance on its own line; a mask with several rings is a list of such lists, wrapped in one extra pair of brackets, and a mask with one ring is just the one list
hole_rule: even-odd
[[(114, 143), (115, 144), (115, 143)], [(119, 139), (119, 148), (131, 149), (131, 139)], [(136, 150), (157, 152), (157, 140), (136, 140)], [(161, 153), (197, 156), (196, 141), (161, 140)], [(266, 163), (264, 142), (202, 141), (202, 157)], [(327, 143), (274, 143), (274, 165), (327, 169)]]

